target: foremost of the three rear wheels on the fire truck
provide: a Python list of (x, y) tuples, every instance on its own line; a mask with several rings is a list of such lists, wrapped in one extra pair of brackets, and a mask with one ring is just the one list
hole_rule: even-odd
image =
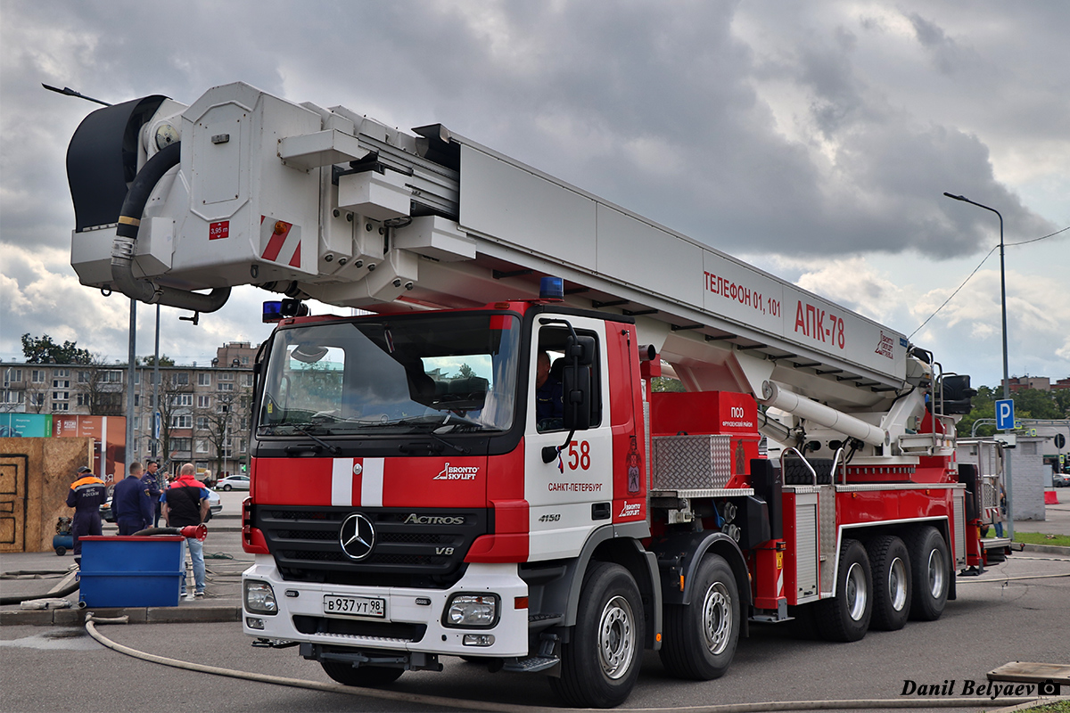
[(817, 603), (821, 635), (829, 641), (857, 641), (873, 615), (873, 577), (866, 547), (844, 539), (836, 574), (836, 596)]

